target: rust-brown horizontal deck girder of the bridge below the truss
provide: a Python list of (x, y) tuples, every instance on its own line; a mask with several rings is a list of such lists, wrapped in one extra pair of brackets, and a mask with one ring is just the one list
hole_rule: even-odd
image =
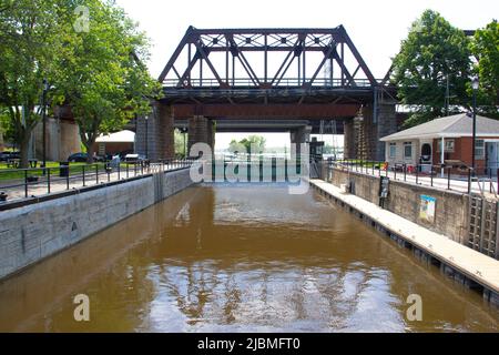
[(176, 119), (349, 119), (374, 100), (373, 89), (165, 89)]

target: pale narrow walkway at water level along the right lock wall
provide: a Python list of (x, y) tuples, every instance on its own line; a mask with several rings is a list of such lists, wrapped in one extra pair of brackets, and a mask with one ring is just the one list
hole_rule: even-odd
[(424, 250), (444, 264), (499, 294), (499, 261), (383, 210), (374, 203), (355, 195), (344, 194), (338, 187), (323, 180), (312, 180), (310, 183), (369, 216), (386, 230)]

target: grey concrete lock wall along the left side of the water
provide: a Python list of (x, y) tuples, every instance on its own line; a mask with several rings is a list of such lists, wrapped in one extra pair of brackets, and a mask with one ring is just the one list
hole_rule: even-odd
[(0, 214), (0, 280), (192, 184), (189, 170), (28, 205)]

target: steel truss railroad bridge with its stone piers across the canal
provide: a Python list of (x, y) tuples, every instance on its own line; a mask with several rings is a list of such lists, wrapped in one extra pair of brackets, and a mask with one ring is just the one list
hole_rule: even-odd
[(374, 78), (343, 26), (190, 27), (159, 80), (164, 98), (136, 122), (138, 152), (152, 160), (174, 155), (174, 128), (189, 131), (189, 146), (213, 146), (215, 132), (288, 131), (294, 143), (345, 134), (347, 156), (379, 160), (378, 139), (397, 129), (389, 73)]

